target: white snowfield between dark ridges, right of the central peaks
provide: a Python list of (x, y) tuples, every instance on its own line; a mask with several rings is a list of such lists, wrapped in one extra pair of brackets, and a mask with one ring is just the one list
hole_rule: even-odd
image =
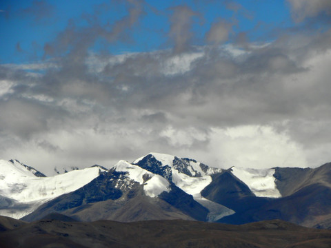
[(255, 196), (279, 198), (281, 193), (274, 181), (274, 169), (248, 169), (232, 167), (232, 174), (248, 185)]

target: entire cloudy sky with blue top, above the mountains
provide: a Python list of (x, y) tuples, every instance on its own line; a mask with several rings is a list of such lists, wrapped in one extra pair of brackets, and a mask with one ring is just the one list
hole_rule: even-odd
[(0, 1), (0, 158), (331, 161), (331, 1)]

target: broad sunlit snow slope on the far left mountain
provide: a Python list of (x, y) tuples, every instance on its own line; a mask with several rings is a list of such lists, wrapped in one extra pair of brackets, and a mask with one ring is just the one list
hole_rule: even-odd
[(17, 161), (0, 160), (0, 215), (21, 218), (46, 201), (79, 189), (99, 176), (99, 167), (37, 177)]

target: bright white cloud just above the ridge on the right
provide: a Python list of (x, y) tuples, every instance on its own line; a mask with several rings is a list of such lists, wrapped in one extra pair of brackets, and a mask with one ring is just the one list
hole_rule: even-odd
[(214, 128), (210, 136), (210, 154), (224, 168), (308, 166), (301, 146), (269, 126)]

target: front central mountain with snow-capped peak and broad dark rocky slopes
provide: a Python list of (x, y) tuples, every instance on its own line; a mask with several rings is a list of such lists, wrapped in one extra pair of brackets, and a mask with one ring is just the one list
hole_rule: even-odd
[(206, 220), (208, 215), (208, 209), (173, 183), (126, 161), (80, 189), (41, 205), (23, 220), (36, 220), (53, 211), (79, 220)]

